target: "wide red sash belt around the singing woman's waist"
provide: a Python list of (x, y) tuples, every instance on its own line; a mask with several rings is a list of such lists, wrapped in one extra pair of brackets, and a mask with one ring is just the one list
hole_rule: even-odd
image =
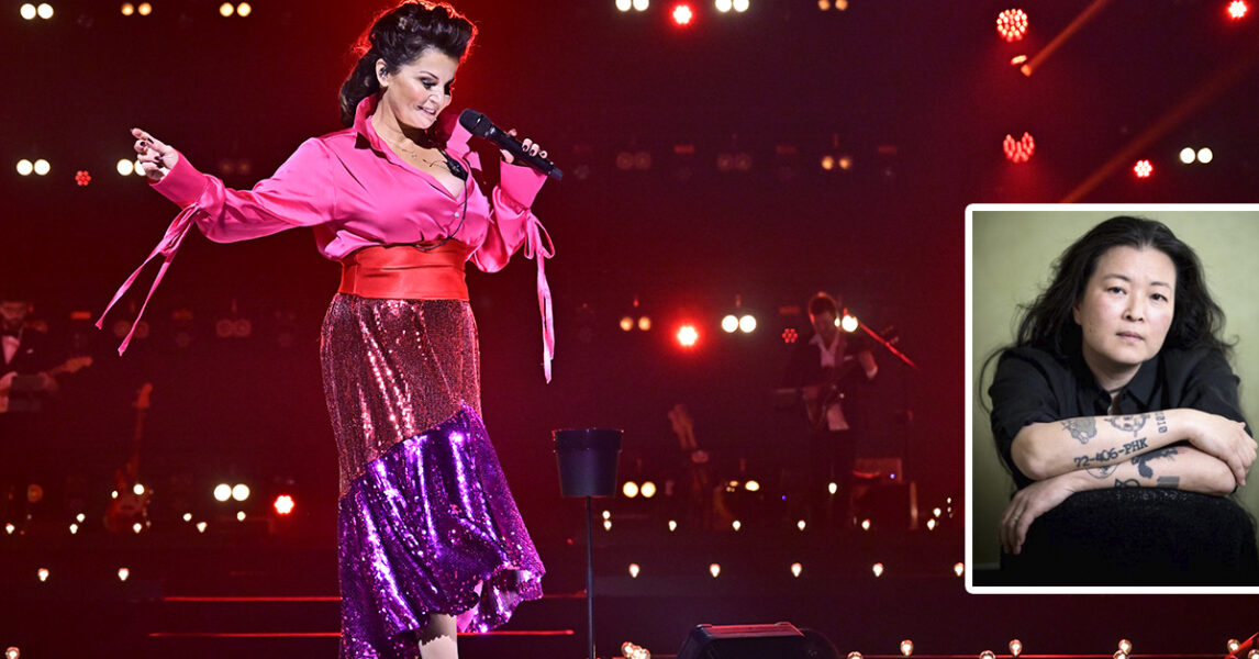
[(467, 299), (463, 264), (472, 249), (449, 240), (424, 252), (417, 245), (380, 245), (341, 259), (341, 293), (378, 299)]

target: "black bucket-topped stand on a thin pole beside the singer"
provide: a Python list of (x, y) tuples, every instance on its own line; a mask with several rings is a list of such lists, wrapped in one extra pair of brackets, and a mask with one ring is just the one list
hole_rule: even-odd
[(621, 430), (583, 428), (555, 430), (555, 462), (564, 497), (585, 498), (585, 638), (589, 659), (594, 651), (594, 497), (611, 497), (617, 489), (617, 458)]

